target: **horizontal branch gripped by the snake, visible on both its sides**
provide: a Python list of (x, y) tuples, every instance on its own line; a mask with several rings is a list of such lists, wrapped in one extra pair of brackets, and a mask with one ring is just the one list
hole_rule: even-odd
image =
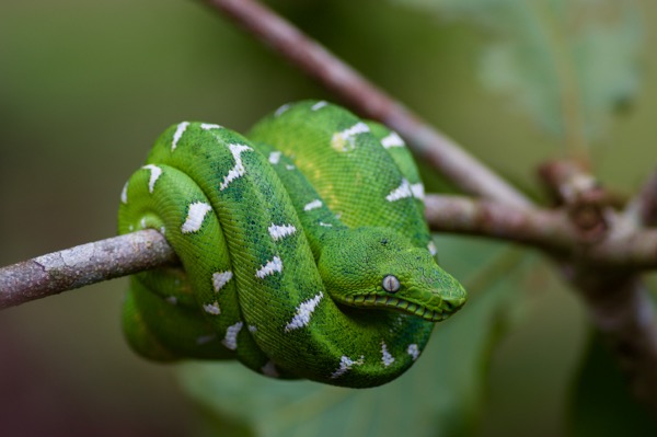
[[(657, 230), (619, 231), (613, 238), (589, 244), (563, 210), (525, 209), (435, 194), (427, 195), (425, 204), (434, 231), (517, 242), (598, 268), (657, 268)], [(0, 268), (0, 308), (175, 261), (166, 240), (154, 230), (82, 244)]]

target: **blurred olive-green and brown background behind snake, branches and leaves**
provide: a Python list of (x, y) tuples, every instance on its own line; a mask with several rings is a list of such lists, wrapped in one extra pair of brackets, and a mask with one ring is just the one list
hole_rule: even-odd
[[(522, 189), (540, 193), (537, 165), (566, 154), (558, 135), (482, 85), (489, 35), (468, 20), (403, 1), (268, 3)], [(638, 92), (620, 102), (590, 149), (602, 182), (625, 195), (657, 156), (657, 73), (644, 48), (657, 43), (657, 5), (632, 8), (644, 23)], [(123, 184), (169, 125), (201, 119), (245, 130), (303, 97), (334, 100), (200, 2), (3, 0), (0, 265), (115, 234)], [(448, 269), (463, 262), (441, 260)], [(198, 430), (174, 368), (124, 344), (125, 287), (113, 280), (0, 314), (0, 434)], [(514, 300), (521, 304), (486, 368), (476, 433), (562, 435), (585, 311), (544, 266)]]

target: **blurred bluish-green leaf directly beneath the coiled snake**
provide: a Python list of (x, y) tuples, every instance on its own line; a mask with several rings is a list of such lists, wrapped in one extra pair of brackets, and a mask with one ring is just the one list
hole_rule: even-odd
[[(189, 364), (183, 387), (217, 421), (257, 436), (460, 436), (476, 425), (489, 353), (517, 291), (523, 252), (441, 238), (442, 264), (471, 291), (437, 326), (418, 363), (380, 388), (350, 390), (263, 378), (239, 364)], [(502, 264), (500, 264), (502, 263)]]

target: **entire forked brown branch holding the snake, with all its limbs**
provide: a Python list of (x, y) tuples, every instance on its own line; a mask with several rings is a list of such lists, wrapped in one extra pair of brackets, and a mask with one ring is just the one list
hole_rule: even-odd
[[(657, 412), (657, 327), (649, 298), (636, 277), (638, 269), (656, 266), (657, 231), (641, 228), (636, 220), (623, 220), (599, 202), (599, 187), (590, 183), (590, 176), (568, 164), (544, 169), (563, 208), (534, 208), (526, 196), (452, 140), (272, 11), (252, 0), (205, 1), (360, 115), (397, 130), (419, 159), (431, 163), (463, 192), (487, 199), (427, 196), (433, 229), (530, 244), (555, 257), (564, 276), (583, 295), (593, 324), (607, 334), (633, 377), (637, 395)], [(657, 175), (652, 181), (636, 200), (646, 223), (657, 220)], [(175, 262), (164, 238), (153, 230), (83, 244), (1, 268), (0, 308)]]

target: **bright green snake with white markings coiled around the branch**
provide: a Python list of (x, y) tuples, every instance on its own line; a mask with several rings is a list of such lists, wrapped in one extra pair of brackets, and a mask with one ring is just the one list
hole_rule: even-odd
[(131, 277), (128, 343), (161, 361), (385, 383), (465, 302), (423, 197), (399, 135), (323, 101), (284, 105), (246, 137), (174, 125), (122, 193), (119, 233), (157, 229), (180, 258)]

